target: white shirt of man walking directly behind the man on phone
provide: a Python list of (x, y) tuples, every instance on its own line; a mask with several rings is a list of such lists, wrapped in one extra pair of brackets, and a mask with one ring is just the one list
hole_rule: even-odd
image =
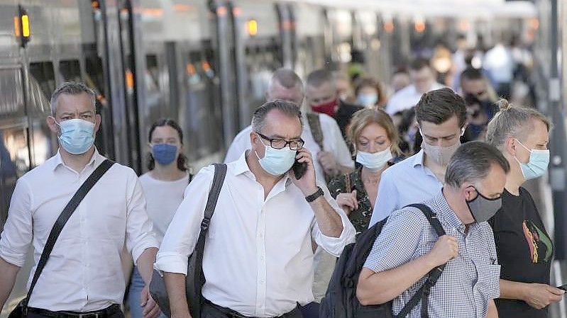
[[(305, 142), (304, 147), (311, 152), (314, 159), (313, 166), (315, 168), (315, 176), (317, 180), (324, 181), (325, 177), (323, 167), (319, 164), (319, 161), (316, 160), (317, 154), (321, 151), (321, 147), (319, 147), (319, 144), (315, 142), (313, 134), (311, 133), (311, 127), (309, 127), (309, 122), (305, 116), (303, 116), (302, 121), (303, 131), (301, 137)], [(323, 147), (325, 148), (325, 151), (333, 154), (337, 164), (354, 168), (354, 161), (352, 159), (351, 152), (348, 150), (348, 146), (343, 139), (341, 129), (338, 127), (336, 120), (329, 115), (319, 114), (319, 123), (321, 123), (321, 131), (323, 132)], [(226, 152), (226, 157), (224, 159), (225, 163), (238, 160), (243, 152), (251, 148), (251, 131), (252, 126), (248, 126), (234, 137), (231, 147), (229, 147), (229, 151)]]

